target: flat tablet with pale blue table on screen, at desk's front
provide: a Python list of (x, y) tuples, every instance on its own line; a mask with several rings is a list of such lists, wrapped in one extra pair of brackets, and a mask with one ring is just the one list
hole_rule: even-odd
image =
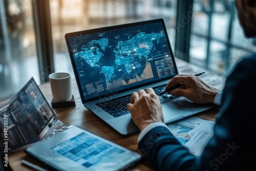
[(37, 142), (25, 153), (57, 170), (121, 170), (141, 155), (78, 126)]

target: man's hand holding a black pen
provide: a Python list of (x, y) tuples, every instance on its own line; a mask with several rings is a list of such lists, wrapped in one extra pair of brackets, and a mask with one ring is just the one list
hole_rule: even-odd
[(184, 86), (169, 92), (169, 94), (174, 96), (184, 96), (195, 103), (214, 103), (215, 96), (219, 92), (218, 89), (210, 87), (198, 76), (180, 74), (173, 77), (167, 83), (165, 89), (167, 90), (178, 83), (183, 83)]

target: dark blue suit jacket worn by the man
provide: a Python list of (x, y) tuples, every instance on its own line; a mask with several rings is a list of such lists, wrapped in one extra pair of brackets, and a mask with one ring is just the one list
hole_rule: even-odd
[(163, 126), (148, 132), (139, 149), (155, 170), (256, 169), (256, 54), (240, 60), (227, 77), (215, 135), (200, 157)]

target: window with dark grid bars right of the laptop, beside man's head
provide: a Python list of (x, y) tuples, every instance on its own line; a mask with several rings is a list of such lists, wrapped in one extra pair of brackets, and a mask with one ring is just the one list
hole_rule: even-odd
[(195, 0), (189, 61), (225, 75), (236, 61), (256, 51), (246, 39), (232, 0)]

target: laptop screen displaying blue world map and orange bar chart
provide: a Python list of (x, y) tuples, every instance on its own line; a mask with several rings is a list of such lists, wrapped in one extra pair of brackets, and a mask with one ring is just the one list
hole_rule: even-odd
[(84, 99), (178, 74), (163, 19), (65, 35)]

